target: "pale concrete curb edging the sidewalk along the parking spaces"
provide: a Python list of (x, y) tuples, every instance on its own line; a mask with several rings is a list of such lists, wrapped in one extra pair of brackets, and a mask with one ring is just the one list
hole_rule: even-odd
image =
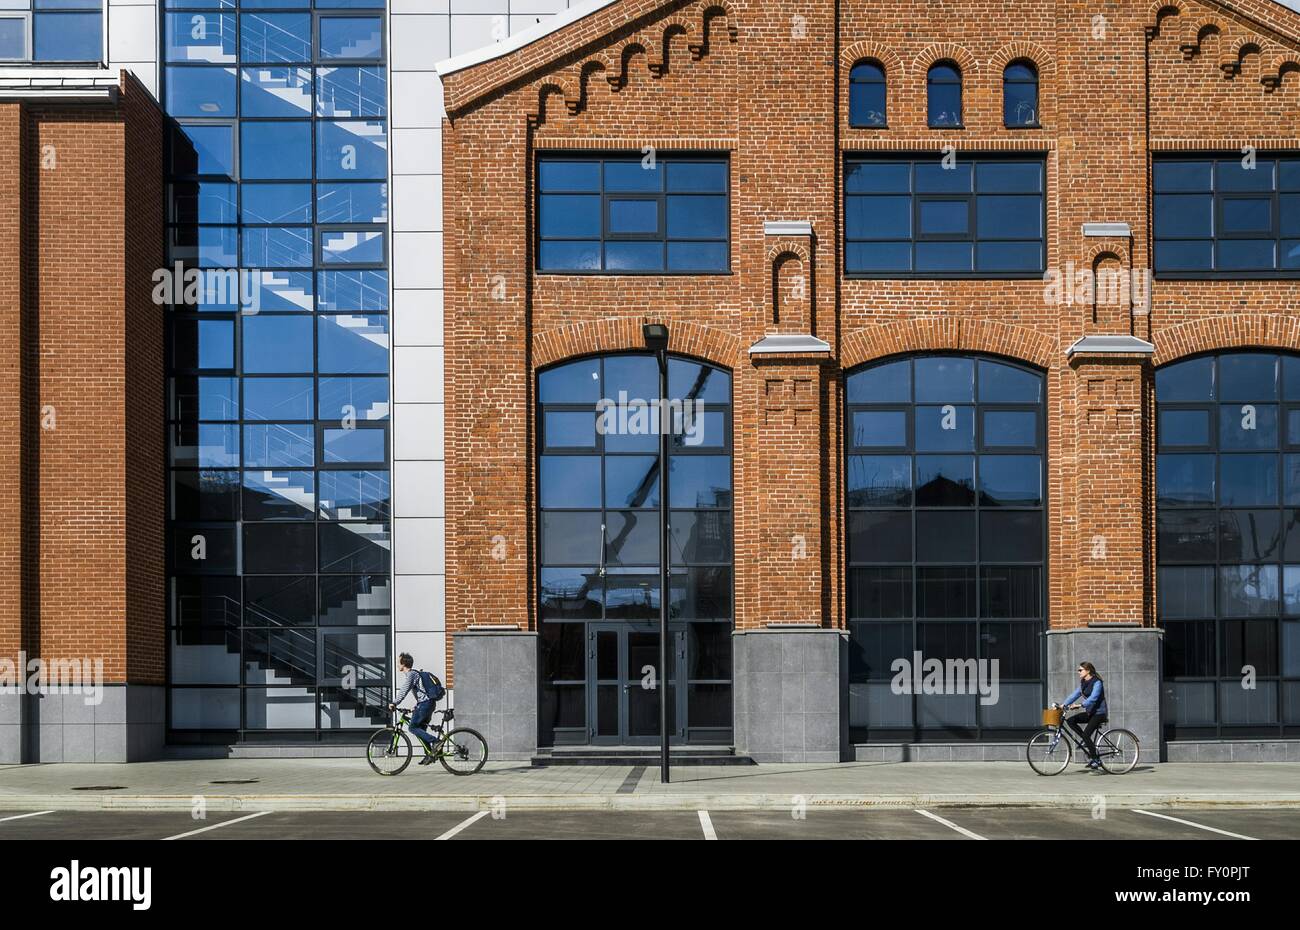
[(0, 796), (0, 810), (191, 810), (202, 797), (208, 810), (300, 812), (436, 812), (494, 810), (502, 804), (516, 810), (789, 810), (802, 801), (823, 809), (915, 808), (1075, 808), (1091, 809), (1098, 800), (1108, 806), (1300, 809), (1300, 793), (1162, 793), (1162, 795), (84, 795)]

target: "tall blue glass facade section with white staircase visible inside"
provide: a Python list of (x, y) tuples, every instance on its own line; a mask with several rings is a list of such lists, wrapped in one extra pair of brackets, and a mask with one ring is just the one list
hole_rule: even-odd
[[(173, 739), (347, 737), (390, 643), (382, 0), (168, 0)], [(229, 286), (221, 274), (238, 269)]]

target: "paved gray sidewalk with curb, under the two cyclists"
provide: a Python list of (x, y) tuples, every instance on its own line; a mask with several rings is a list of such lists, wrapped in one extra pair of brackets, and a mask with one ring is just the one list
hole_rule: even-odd
[(1035, 775), (1024, 762), (841, 762), (551, 766), (489, 762), (477, 775), (411, 766), (384, 778), (363, 760), (185, 760), (130, 765), (0, 766), (0, 810), (481, 810), (502, 803), (552, 810), (760, 810), (815, 806), (1300, 808), (1300, 765), (1140, 765), (1127, 775), (1070, 766)]

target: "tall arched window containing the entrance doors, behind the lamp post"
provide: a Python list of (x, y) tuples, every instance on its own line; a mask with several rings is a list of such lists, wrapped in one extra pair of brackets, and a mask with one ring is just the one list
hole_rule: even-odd
[[(645, 687), (659, 662), (658, 397), (649, 354), (538, 376), (543, 745), (659, 739), (659, 692)], [(731, 376), (671, 358), (668, 398), (670, 730), (729, 743)]]

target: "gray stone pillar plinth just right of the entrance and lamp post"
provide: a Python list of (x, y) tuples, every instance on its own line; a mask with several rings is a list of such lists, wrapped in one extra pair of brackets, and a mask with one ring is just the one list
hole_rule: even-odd
[(768, 627), (732, 637), (736, 751), (755, 762), (848, 758), (848, 633)]

